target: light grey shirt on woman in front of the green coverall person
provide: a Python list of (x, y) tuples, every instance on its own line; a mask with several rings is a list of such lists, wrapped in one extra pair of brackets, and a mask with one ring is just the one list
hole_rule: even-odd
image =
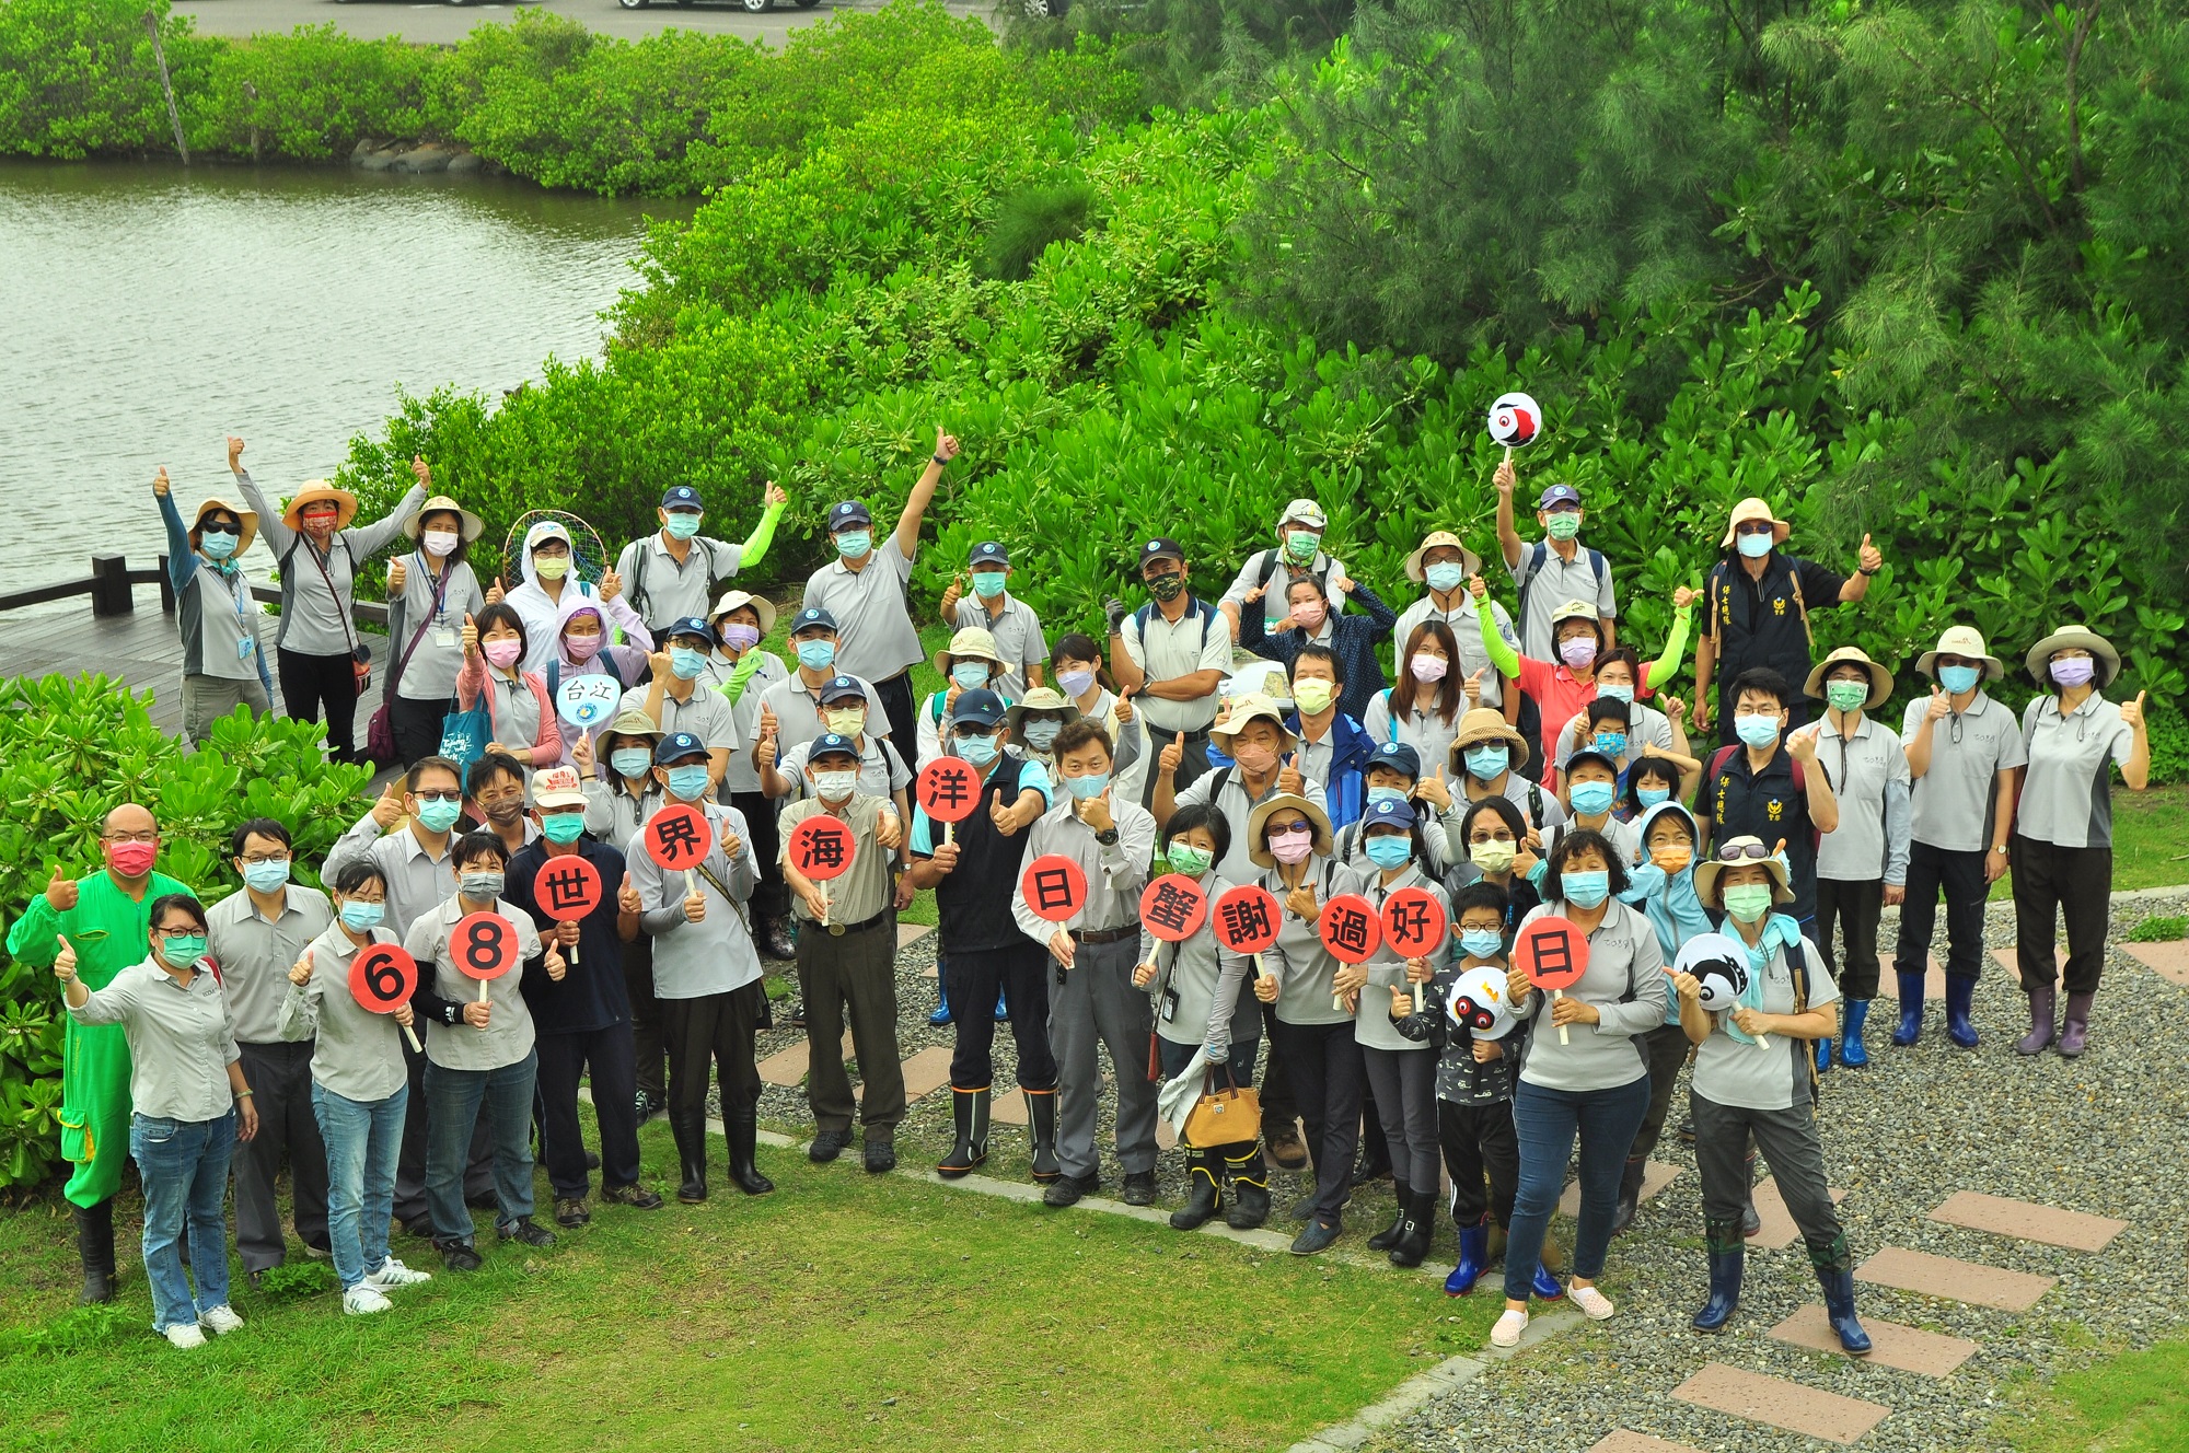
[(243, 1055), (228, 1022), (228, 996), (204, 965), (184, 989), (147, 954), (68, 1013), (77, 1024), (123, 1026), (129, 1105), (140, 1116), (201, 1123), (234, 1107), (228, 1066)]

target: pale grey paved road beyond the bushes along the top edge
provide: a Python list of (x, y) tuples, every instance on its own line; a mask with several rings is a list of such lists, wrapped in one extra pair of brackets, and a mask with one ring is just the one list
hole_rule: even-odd
[[(948, 0), (959, 15), (989, 15), (987, 0)], [(528, 4), (414, 4), (412, 0), (179, 0), (184, 15), (197, 20), (206, 35), (254, 35), (260, 31), (287, 33), (304, 24), (337, 24), (359, 39), (403, 35), (416, 42), (455, 44), (479, 24), (508, 24), (519, 9), (543, 9), (556, 15), (580, 20), (602, 35), (637, 39), (670, 26), (679, 31), (725, 31), (751, 35), (768, 44), (803, 24), (812, 24), (836, 11), (876, 9), (873, 0), (821, 0), (812, 9), (797, 9), (795, 0), (762, 15), (744, 11), (740, 0), (705, 0), (703, 4), (674, 4), (659, 0), (648, 9), (626, 11), (617, 0), (530, 0)]]

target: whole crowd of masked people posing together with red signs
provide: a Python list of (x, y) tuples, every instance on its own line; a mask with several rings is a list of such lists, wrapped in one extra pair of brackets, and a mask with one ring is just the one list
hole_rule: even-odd
[[(195, 722), (269, 700), (236, 556), (271, 510), (239, 453), (230, 440), (250, 508), (215, 499), (184, 527), (164, 477), (155, 486), (179, 540), (171, 571)], [(13, 923), (9, 950), (66, 985), (66, 1195), (85, 1298), (112, 1298), (125, 1158), (144, 1179), (155, 1328), (177, 1346), (239, 1326), (221, 1212), (230, 1162), (245, 1269), (282, 1260), (274, 1186), (287, 1162), (298, 1236), (333, 1258), (350, 1313), (381, 1311), (390, 1289), (427, 1276), (392, 1256), (392, 1223), (431, 1239), (453, 1271), (479, 1265), (471, 1206), (495, 1210), (503, 1241), (554, 1241), (534, 1221), (534, 1127), (560, 1228), (591, 1217), (595, 1164), (602, 1201), (663, 1204), (637, 1151), (657, 1112), (679, 1151), (676, 1197), (705, 1199), (709, 1088), (729, 1179), (768, 1193), (755, 1164), (766, 958), (797, 967), (810, 1160), (856, 1140), (867, 1171), (889, 1171), (906, 1114), (893, 923), (919, 891), (939, 915), (935, 1022), (954, 1031), (939, 1175), (989, 1160), (994, 1035), (1007, 1022), (1027, 1173), (1049, 1206), (1110, 1184), (1105, 1094), (1127, 1204), (1156, 1199), (1158, 1120), (1191, 1129), (1178, 1228), (1289, 1212), (1292, 1249), (1322, 1252), (1353, 1188), (1388, 1173), (1397, 1217), (1368, 1245), (1418, 1265), (1449, 1173), (1447, 1289), (1471, 1291), (1502, 1249), (1493, 1339), (1506, 1346), (1530, 1298), (1613, 1315), (1596, 1278), (1692, 1063), (1686, 1134), (1710, 1280), (1694, 1326), (1716, 1330), (1738, 1306), (1760, 1153), (1841, 1344), (1867, 1348), (1826, 1190), (1817, 1083), (1869, 1063), (1885, 906), (1900, 908), (1893, 1044), (1924, 1033), (1944, 897), (1946, 1035), (1977, 1048), (1983, 899), (2012, 867), (2031, 1009), (2014, 1048), (2086, 1050), (2110, 775), (2143, 788), (2150, 768), (2143, 702), (2104, 696), (2121, 661), (2095, 632), (2064, 626), (2027, 650), (2038, 694), (2014, 720), (1985, 689), (2005, 663), (1955, 624), (1915, 661), (1926, 691), (1893, 731), (1872, 716), (1896, 691), (1891, 667), (1856, 648), (1819, 661), (1810, 635), (1810, 611), (1863, 600), (1880, 554), (1865, 538), (1845, 576), (1795, 558), (1788, 525), (1749, 499), (1703, 591), (1675, 593), (1668, 639), (1644, 659), (1620, 639), (1613, 565), (1580, 543), (1580, 495), (1545, 488), (1530, 543), (1508, 462), (1495, 490), (1510, 604), (1462, 538), (1434, 532), (1405, 560), (1423, 595), (1394, 611), (1324, 549), (1322, 508), (1296, 499), (1274, 545), (1213, 602), (1173, 538), (1145, 538), (1147, 600), (1108, 602), (1108, 639), (1070, 632), (1051, 650), (1011, 589), (1011, 549), (985, 540), (939, 602), (952, 628), (935, 656), (943, 687), (915, 700), (924, 648), (906, 584), (954, 455), (939, 431), (889, 534), (862, 501), (827, 512), (836, 558), (788, 619), (792, 659), (762, 648), (775, 604), (731, 582), (768, 545), (775, 486), (744, 545), (703, 536), (698, 495), (670, 490), (661, 530), (598, 580), (571, 571), (569, 530), (534, 527), (521, 586), (503, 597), (497, 582), (495, 600), (464, 562), (477, 516), (429, 499), (422, 462), (414, 497), (366, 530), (350, 527), (341, 490), (300, 490), (276, 538), (285, 696), (293, 678), (333, 713), (328, 621), (339, 611), (348, 628), (363, 556), (398, 530), (418, 540), (390, 567), (385, 689), (405, 770), (317, 867), (324, 891), (296, 880), (289, 829), (260, 818), (230, 845), (243, 888), (201, 906), (158, 871), (144, 803), (107, 818), (103, 871), (57, 871)], [(1692, 707), (1672, 694), (1690, 635)], [(611, 678), (613, 711), (589, 729), (558, 711), (563, 685), (582, 676)], [(453, 729), (482, 707), (484, 733)], [(333, 716), (328, 742), (350, 751)], [(954, 823), (930, 821), (908, 792), (941, 757), (978, 783)], [(648, 827), (665, 812), (681, 832), (705, 818), (705, 856), (657, 862)], [(816, 832), (814, 818), (830, 821)], [(816, 842), (830, 845), (827, 873)], [(576, 919), (543, 902), (543, 884), (578, 871), (571, 858), (606, 884)], [(1070, 860), (1086, 884), (1062, 919), (1027, 899), (1024, 869), (1042, 858)], [(1193, 880), (1208, 902), (1267, 891), (1274, 943), (1232, 952), (1215, 915), (1180, 939), (1182, 923), (1143, 915), (1162, 875)], [(1434, 899), (1440, 941), (1414, 954), (1383, 943), (1359, 963), (1333, 954), (1333, 899), (1381, 910), (1399, 893)], [(508, 921), (521, 972), (462, 972), (451, 934), (482, 913)], [(1585, 958), (1556, 993), (1515, 952), (1537, 923)], [(352, 993), (372, 945), (401, 945), (418, 967), (392, 1013)], [(584, 1077), (598, 1158), (580, 1136)], [(1204, 1096), (1230, 1118), (1200, 1116)], [(1576, 1142), (1580, 1217), (1565, 1254), (1550, 1219)], [(1283, 1212), (1272, 1166), (1311, 1166)]]

